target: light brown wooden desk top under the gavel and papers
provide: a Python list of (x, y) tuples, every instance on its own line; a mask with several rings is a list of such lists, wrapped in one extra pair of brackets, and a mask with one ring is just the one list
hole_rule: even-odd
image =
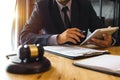
[[(112, 54), (120, 55), (120, 47), (107, 49)], [(51, 69), (44, 73), (31, 75), (18, 75), (6, 72), (6, 62), (2, 60), (3, 57), (0, 58), (0, 80), (120, 80), (120, 77), (117, 76), (76, 67), (72, 65), (74, 60), (49, 53), (45, 53), (45, 56), (51, 61)]]

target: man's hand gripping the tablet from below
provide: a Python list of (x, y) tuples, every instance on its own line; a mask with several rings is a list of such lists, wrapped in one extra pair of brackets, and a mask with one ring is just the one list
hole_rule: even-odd
[(87, 44), (94, 44), (99, 47), (109, 47), (112, 44), (112, 36), (103, 34), (103, 40), (92, 38)]

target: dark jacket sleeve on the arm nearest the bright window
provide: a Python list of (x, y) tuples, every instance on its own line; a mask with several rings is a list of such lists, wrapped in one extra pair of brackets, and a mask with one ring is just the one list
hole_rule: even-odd
[(44, 26), (42, 16), (39, 12), (39, 5), (36, 4), (31, 17), (26, 22), (20, 35), (20, 44), (36, 44), (47, 45), (47, 40), (51, 36), (50, 34), (39, 34)]

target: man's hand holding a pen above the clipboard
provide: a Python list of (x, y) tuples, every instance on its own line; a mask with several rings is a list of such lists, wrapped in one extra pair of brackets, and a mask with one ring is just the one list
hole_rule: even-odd
[(58, 35), (57, 42), (58, 44), (64, 44), (66, 42), (72, 42), (73, 44), (77, 44), (77, 42), (80, 42), (80, 38), (84, 37), (85, 36), (82, 33), (80, 33), (80, 29), (69, 28)]

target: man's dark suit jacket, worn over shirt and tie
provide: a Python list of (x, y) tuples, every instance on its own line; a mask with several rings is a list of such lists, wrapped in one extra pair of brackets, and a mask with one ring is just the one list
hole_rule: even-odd
[[(97, 17), (89, 0), (72, 0), (71, 4), (71, 27), (77, 27), (93, 32), (97, 28), (105, 27)], [(45, 34), (39, 34), (40, 30)], [(20, 33), (20, 44), (47, 45), (48, 38), (53, 34), (65, 31), (58, 5), (55, 0), (39, 0)]]

